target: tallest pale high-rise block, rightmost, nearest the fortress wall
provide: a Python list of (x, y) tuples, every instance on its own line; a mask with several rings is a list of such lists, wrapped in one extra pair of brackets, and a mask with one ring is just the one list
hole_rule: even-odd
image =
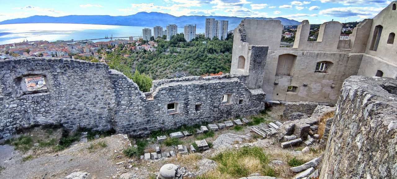
[(218, 39), (224, 40), (227, 37), (227, 27), (229, 21), (215, 20), (213, 18), (205, 19), (205, 37), (210, 39), (217, 37)]

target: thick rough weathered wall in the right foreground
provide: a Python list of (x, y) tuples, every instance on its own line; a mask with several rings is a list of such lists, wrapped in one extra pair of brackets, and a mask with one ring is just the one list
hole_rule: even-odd
[(331, 126), (321, 179), (397, 178), (397, 80), (351, 76)]

